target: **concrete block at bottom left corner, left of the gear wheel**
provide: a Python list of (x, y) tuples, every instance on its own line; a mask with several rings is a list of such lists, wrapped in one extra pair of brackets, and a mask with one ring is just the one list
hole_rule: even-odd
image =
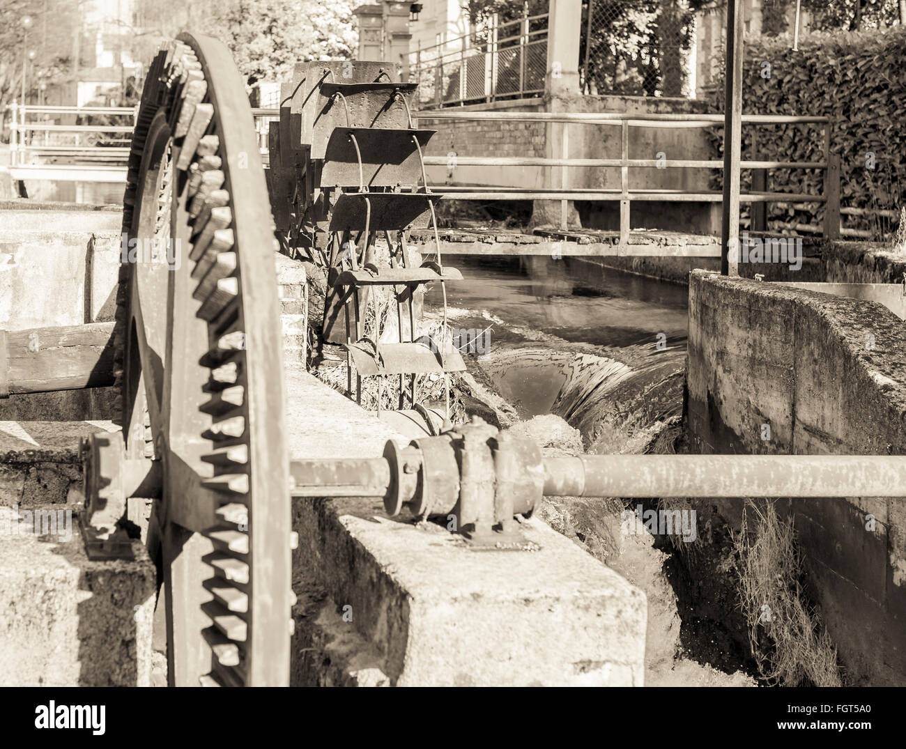
[[(40, 509), (65, 513), (26, 512)], [(16, 517), (0, 507), (0, 684), (148, 686), (156, 583), (145, 547), (132, 543), (134, 561), (89, 562), (75, 514), (55, 534)]]

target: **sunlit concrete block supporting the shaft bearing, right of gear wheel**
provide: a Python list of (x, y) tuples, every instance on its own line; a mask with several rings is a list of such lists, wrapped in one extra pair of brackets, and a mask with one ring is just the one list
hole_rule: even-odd
[[(286, 378), (293, 457), (408, 441), (304, 371)], [(380, 501), (295, 500), (294, 683), (641, 686), (644, 594), (545, 523), (522, 528), (535, 551), (474, 552)]]

